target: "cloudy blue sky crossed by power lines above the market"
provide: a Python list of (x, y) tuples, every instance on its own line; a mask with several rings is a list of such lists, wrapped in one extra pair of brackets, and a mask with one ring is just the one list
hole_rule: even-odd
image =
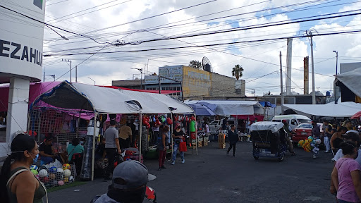
[[(159, 66), (188, 65), (191, 60), (202, 61), (202, 57), (207, 56), (213, 71), (222, 75), (232, 76), (232, 68), (236, 64), (242, 66), (241, 79), (246, 81), (247, 96), (254, 90), (258, 96), (269, 91), (279, 94), (279, 52), (286, 71), (286, 37), (304, 36), (293, 39), (291, 58), (292, 91), (302, 94), (303, 57), (311, 55), (306, 30), (314, 33), (315, 90), (331, 89), (336, 73), (334, 50), (338, 51), (338, 63), (361, 59), (359, 32), (317, 36), (360, 30), (360, 15), (169, 39), (322, 18), (330, 13), (335, 13), (334, 16), (357, 13), (361, 11), (361, 1), (357, 0), (47, 0), (46, 4), (46, 23), (77, 34), (54, 29), (69, 39), (65, 40), (44, 28), (44, 54), (49, 55), (43, 63), (47, 81), (53, 80), (49, 76), (53, 74), (56, 80), (69, 80), (70, 68), (62, 59), (71, 60), (73, 67), (78, 65), (78, 82), (93, 85), (94, 80), (96, 85), (111, 85), (111, 80), (139, 78), (140, 72), (131, 68), (145, 68), (149, 75), (158, 73)], [(264, 41), (280, 37), (284, 39)], [(144, 42), (160, 38), (163, 40)], [(255, 40), (259, 41), (245, 42)], [(197, 47), (230, 42), (239, 43)], [(173, 47), (192, 48), (166, 49)], [(160, 48), (162, 50), (148, 50)], [(109, 53), (114, 51), (118, 52)], [(86, 54), (89, 52), (97, 54)], [(75, 70), (72, 80), (75, 80)], [(286, 85), (284, 81), (283, 85)], [(312, 92), (311, 78), (309, 92)]]

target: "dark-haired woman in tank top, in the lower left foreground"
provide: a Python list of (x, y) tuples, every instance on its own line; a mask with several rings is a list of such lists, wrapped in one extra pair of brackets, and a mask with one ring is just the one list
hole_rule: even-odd
[(30, 166), (37, 161), (39, 149), (29, 135), (17, 135), (11, 142), (11, 154), (1, 168), (1, 202), (42, 202), (47, 190), (30, 172)]

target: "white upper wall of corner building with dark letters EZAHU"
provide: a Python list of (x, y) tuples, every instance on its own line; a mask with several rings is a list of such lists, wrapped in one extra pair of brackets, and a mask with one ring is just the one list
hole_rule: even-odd
[[(45, 0), (1, 1), (1, 6), (44, 22)], [(42, 78), (44, 24), (0, 8), (0, 78), (25, 76)]]

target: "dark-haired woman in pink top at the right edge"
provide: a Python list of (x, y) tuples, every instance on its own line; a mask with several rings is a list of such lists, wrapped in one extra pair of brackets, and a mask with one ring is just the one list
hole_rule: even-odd
[(341, 143), (340, 147), (344, 156), (338, 159), (331, 174), (331, 180), (337, 191), (338, 202), (360, 202), (361, 166), (355, 161), (358, 155), (356, 144), (346, 141)]

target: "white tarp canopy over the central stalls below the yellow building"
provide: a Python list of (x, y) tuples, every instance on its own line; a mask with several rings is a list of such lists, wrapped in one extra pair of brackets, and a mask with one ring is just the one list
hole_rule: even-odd
[(263, 106), (258, 101), (230, 101), (230, 100), (200, 100), (200, 101), (185, 101), (185, 104), (207, 104), (216, 105), (214, 113), (216, 115), (253, 115), (255, 113), (262, 114)]

